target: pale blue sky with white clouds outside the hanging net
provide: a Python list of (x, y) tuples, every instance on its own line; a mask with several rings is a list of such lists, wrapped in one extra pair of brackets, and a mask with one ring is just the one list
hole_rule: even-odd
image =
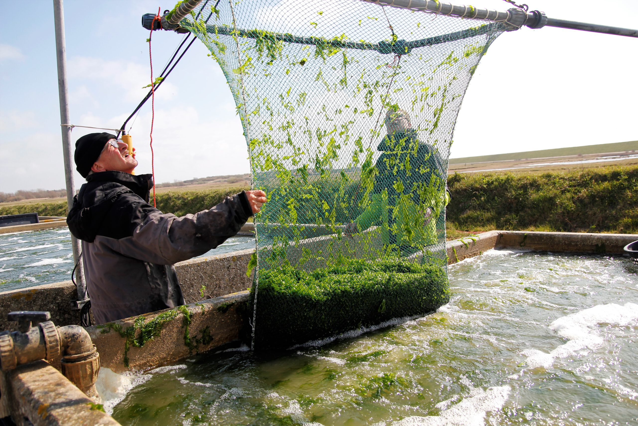
[[(355, 1), (355, 0), (353, 0)], [(143, 13), (163, 3), (64, 1), (71, 124), (119, 128), (150, 82)], [(0, 191), (64, 187), (53, 2), (0, 0)], [(462, 1), (454, 3), (462, 4)], [(547, 16), (638, 26), (635, 0), (528, 0)], [(473, 6), (505, 10), (502, 0)], [(154, 72), (182, 35), (152, 36)], [(638, 140), (638, 39), (545, 27), (501, 35), (466, 92), (453, 158)], [(158, 183), (249, 172), (235, 103), (198, 41), (158, 90), (153, 148)], [(131, 120), (132, 121), (132, 120)], [(138, 173), (151, 172), (151, 102), (131, 128)], [(72, 141), (85, 133), (74, 128)], [(75, 185), (84, 179), (75, 173)]]

